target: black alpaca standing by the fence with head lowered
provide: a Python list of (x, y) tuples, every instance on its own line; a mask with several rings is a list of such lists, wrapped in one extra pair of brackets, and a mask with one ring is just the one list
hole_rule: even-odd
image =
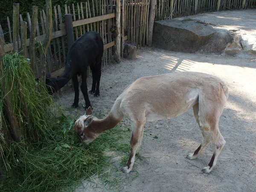
[(79, 102), (79, 82), (77, 76), (81, 75), (81, 91), (84, 95), (85, 109), (89, 108), (91, 105), (87, 93), (87, 66), (90, 65), (93, 75), (90, 93), (94, 93), (94, 96), (99, 96), (103, 49), (102, 38), (94, 31), (89, 31), (78, 38), (67, 53), (66, 67), (61, 76), (57, 79), (47, 74), (46, 85), (48, 92), (50, 94), (57, 92), (72, 79), (75, 90), (75, 99), (72, 107), (77, 108)]

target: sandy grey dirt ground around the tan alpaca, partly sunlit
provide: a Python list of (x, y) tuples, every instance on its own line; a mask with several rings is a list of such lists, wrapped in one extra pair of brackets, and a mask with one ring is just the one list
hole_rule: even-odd
[[(253, 13), (256, 15), (256, 10)], [(239, 14), (236, 14), (236, 18), (238, 17)], [(233, 16), (228, 19), (224, 17), (221, 22), (233, 20), (234, 26), (256, 32), (256, 17), (253, 19), (254, 24), (248, 23), (247, 26), (243, 26), (243, 20), (234, 20)], [(239, 23), (236, 24), (236, 21)], [(135, 60), (123, 59), (120, 64), (109, 64), (103, 69), (101, 95), (98, 98), (92, 95), (89, 97), (93, 110), (101, 110), (104, 114), (110, 111), (119, 94), (141, 76), (179, 71), (203, 72), (221, 78), (230, 90), (219, 122), (221, 134), (227, 143), (210, 174), (202, 174), (201, 169), (208, 165), (212, 157), (211, 144), (198, 159), (186, 159), (186, 155), (195, 151), (203, 138), (193, 111), (190, 110), (174, 119), (146, 123), (140, 158), (137, 157), (131, 173), (119, 174), (121, 184), (118, 191), (256, 192), (255, 58), (255, 55), (230, 57), (204, 53), (187, 54), (153, 47), (139, 49)], [(90, 89), (91, 77), (87, 84)], [(64, 91), (58, 102), (65, 110), (70, 111), (70, 115), (79, 117), (84, 114), (84, 99), (81, 96), (80, 93), (80, 107), (77, 109), (70, 109), (74, 99), (73, 91)], [(127, 125), (129, 126), (128, 122)], [(158, 139), (154, 139), (154, 136)], [(121, 169), (121, 160), (116, 161)], [(99, 182), (84, 184), (77, 191), (98, 192), (111, 189)]]

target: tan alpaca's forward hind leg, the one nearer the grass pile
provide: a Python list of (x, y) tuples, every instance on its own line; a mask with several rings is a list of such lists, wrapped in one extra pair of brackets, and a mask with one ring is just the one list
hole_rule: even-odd
[(194, 111), (195, 120), (199, 125), (199, 128), (204, 136), (204, 139), (203, 139), (201, 145), (199, 145), (199, 147), (194, 151), (194, 153), (190, 153), (187, 155), (186, 158), (191, 159), (191, 160), (195, 159), (199, 155), (201, 155), (204, 151), (204, 148), (209, 144), (209, 138), (207, 137), (207, 135), (204, 134), (204, 131), (201, 129), (200, 124), (199, 124), (199, 115), (198, 115), (199, 105), (198, 105), (198, 103), (193, 106), (193, 111)]

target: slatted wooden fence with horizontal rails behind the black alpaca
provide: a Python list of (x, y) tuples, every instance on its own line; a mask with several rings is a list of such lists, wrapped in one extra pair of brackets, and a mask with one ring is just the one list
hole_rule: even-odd
[[(148, 34), (148, 9), (150, 0), (134, 0), (124, 1), (121, 4), (121, 49), (124, 47), (124, 41), (128, 40), (129, 43), (136, 44), (137, 46), (145, 46), (147, 34)], [(94, 30), (98, 32), (104, 41), (104, 55), (102, 66), (105, 67), (108, 62), (113, 61), (116, 55), (116, 1), (115, 0), (93, 0), (85, 3), (72, 4), (67, 6), (66, 4), (52, 9), (52, 36), (51, 45), (47, 51), (47, 72), (52, 76), (59, 76), (64, 71), (64, 62), (67, 55), (67, 37), (65, 29), (65, 17), (64, 14), (72, 14), (73, 17), (73, 30), (75, 40), (79, 38), (83, 33)], [(31, 32), (31, 17), (27, 13), (26, 18), (22, 15), (19, 17), (19, 23), (23, 20), (27, 21), (28, 32)], [(7, 17), (8, 31), (4, 32), (0, 25), (0, 38), (2, 38), (5, 52), (13, 50), (13, 38), (12, 38), (12, 23)], [(42, 10), (38, 13), (38, 20), (36, 25), (36, 43), (41, 42), (45, 38), (45, 23), (46, 14)], [(21, 25), (22, 26), (22, 25)], [(19, 40), (18, 44), (21, 50), (22, 41), (20, 41), (21, 27), (19, 28)], [(6, 41), (5, 41), (6, 40)], [(25, 47), (29, 46), (30, 39), (26, 38)], [(36, 48), (36, 51), (38, 47)], [(36, 52), (37, 57), (39, 53)], [(31, 57), (29, 50), (26, 51), (26, 56)], [(121, 51), (122, 56), (122, 51)], [(35, 66), (38, 59), (35, 60)], [(37, 69), (38, 70), (38, 69)]]

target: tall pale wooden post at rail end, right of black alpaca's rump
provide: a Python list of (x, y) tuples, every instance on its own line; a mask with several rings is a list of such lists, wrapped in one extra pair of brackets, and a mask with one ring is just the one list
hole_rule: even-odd
[(116, 1), (116, 62), (120, 63), (121, 59), (120, 59), (120, 11), (121, 11), (121, 7), (120, 7), (120, 1), (117, 0)]

